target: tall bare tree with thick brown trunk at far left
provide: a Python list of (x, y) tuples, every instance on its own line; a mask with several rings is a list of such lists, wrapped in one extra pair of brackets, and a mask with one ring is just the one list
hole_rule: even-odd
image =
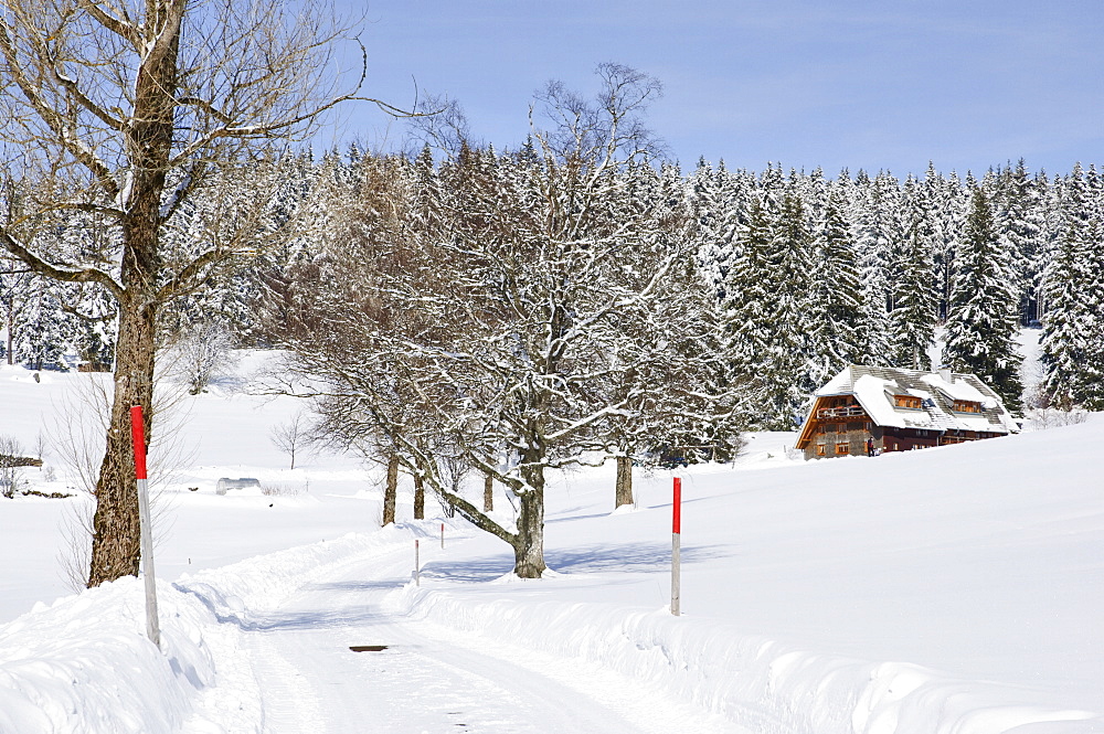
[[(327, 26), (326, 10), (310, 0), (0, 6), (0, 178), (29, 192), (28, 216), (0, 224), (0, 244), (39, 274), (96, 284), (118, 304), (89, 585), (138, 573), (128, 421), (131, 405), (152, 404), (158, 312), (256, 247), (250, 235), (265, 228), (268, 187), (256, 178), (240, 190), (252, 205), (235, 205), (209, 238), (167, 246), (167, 232), (212, 174), (305, 132), (352, 96), (331, 83), (327, 62), (342, 33)], [(75, 212), (109, 234), (103, 247), (60, 253), (43, 240)]]

